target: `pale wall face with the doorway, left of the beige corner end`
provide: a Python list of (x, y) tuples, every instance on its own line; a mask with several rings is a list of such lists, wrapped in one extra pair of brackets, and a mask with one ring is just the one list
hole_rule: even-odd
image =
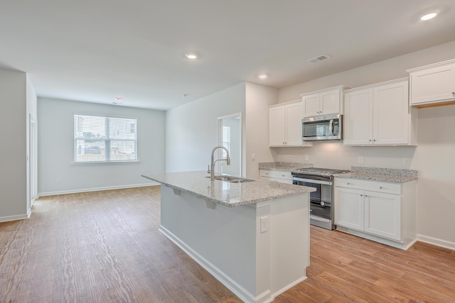
[(166, 172), (207, 170), (218, 117), (240, 112), (245, 133), (245, 83), (166, 111)]

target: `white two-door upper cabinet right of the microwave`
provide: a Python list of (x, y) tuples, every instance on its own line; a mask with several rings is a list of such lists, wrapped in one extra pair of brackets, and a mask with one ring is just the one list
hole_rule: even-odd
[(344, 99), (344, 145), (417, 145), (407, 78), (348, 89)]

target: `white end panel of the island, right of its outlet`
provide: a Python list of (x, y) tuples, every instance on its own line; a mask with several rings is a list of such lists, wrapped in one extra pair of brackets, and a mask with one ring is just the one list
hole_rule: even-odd
[(309, 266), (309, 194), (273, 200), (270, 223), (272, 297), (306, 280)]

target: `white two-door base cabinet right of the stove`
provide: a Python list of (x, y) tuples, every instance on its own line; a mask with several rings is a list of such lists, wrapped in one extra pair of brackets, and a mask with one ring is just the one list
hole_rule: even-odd
[(414, 193), (415, 182), (398, 184), (336, 178), (337, 229), (407, 249), (416, 238)]

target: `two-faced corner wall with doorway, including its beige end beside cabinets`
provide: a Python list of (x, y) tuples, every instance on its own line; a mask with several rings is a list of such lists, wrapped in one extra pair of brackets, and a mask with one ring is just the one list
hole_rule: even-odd
[[(166, 112), (166, 171), (207, 170), (218, 145), (218, 117), (242, 113), (242, 177), (259, 178), (258, 162), (273, 160), (269, 105), (277, 89), (244, 82)], [(255, 154), (253, 160), (251, 155)]]

